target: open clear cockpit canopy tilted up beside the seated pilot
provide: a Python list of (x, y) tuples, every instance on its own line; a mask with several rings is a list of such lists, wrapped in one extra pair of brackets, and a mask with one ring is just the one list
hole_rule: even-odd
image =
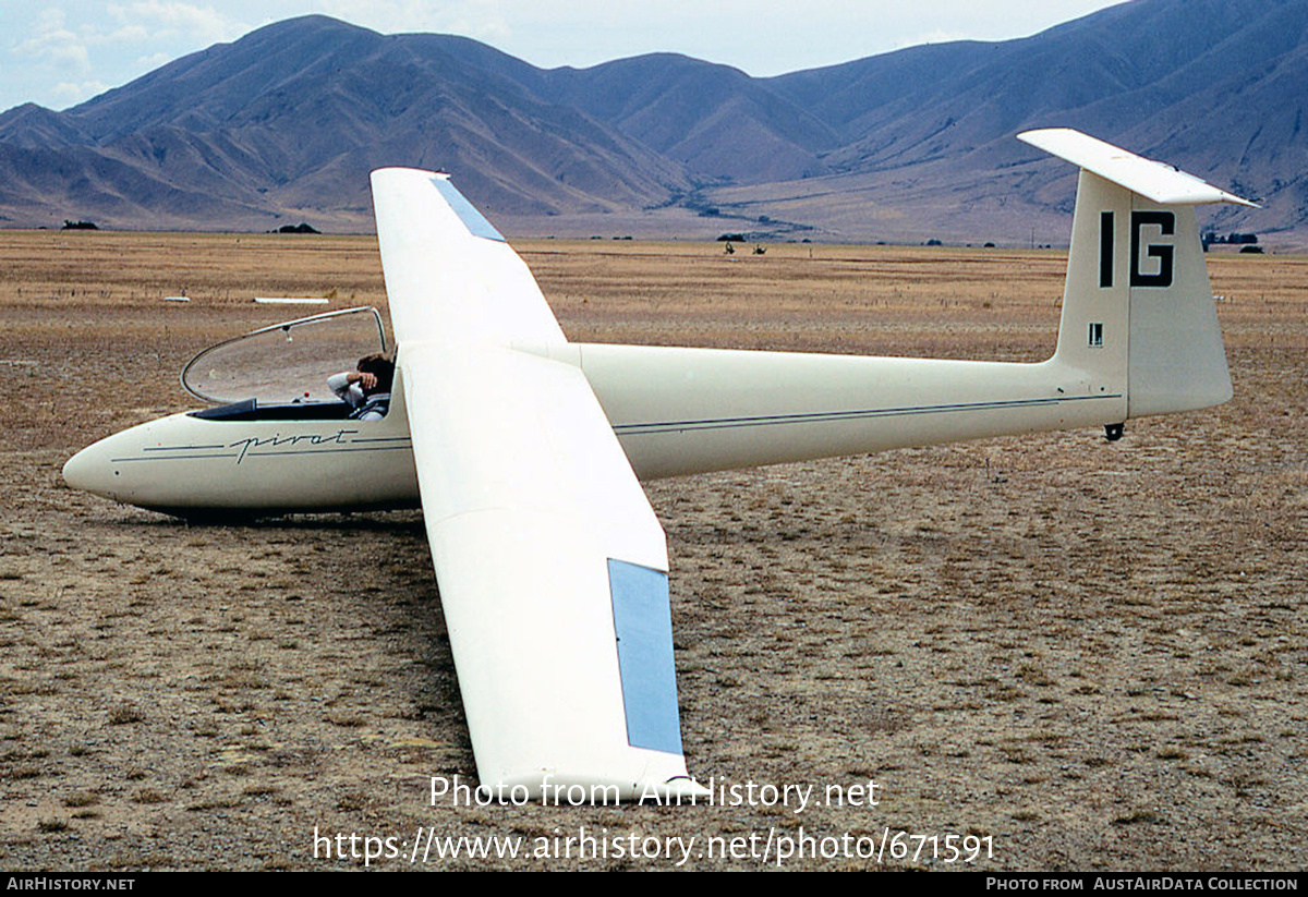
[(259, 405), (339, 403), (327, 378), (354, 370), (361, 357), (374, 352), (386, 352), (377, 309), (341, 309), (211, 345), (182, 369), (182, 386), (213, 404), (247, 399)]

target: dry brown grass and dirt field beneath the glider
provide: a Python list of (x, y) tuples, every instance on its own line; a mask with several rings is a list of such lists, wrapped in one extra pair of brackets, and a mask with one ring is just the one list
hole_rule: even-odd
[[(521, 248), (574, 339), (1003, 360), (1052, 350), (1063, 265)], [(385, 305), (374, 241), (0, 231), (0, 867), (364, 867), (317, 832), (409, 868), (434, 830), (523, 856), (424, 868), (668, 868), (692, 837), (684, 868), (757, 868), (800, 829), (844, 841), (785, 868), (1308, 866), (1303, 259), (1210, 259), (1215, 411), (649, 485), (691, 770), (812, 787), (799, 812), (432, 805), (475, 769), (419, 514), (187, 527), (63, 485), (191, 405), (194, 352), (296, 316), (250, 297)], [(827, 805), (870, 779), (878, 805)], [(858, 855), (899, 830), (916, 858)], [(950, 863), (951, 834), (989, 841)]]

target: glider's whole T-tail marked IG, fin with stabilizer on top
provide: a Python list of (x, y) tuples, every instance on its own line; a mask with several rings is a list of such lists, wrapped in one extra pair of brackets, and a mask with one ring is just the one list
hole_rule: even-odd
[(1069, 128), (1018, 139), (1080, 166), (1054, 362), (1126, 395), (1126, 417), (1231, 398), (1194, 207), (1253, 203)]

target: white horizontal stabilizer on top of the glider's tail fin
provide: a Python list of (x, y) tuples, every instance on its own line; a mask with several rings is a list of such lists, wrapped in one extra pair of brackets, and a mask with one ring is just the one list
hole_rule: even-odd
[(1135, 156), (1103, 140), (1071, 128), (1042, 128), (1024, 131), (1018, 140), (1042, 149), (1050, 156), (1067, 160), (1100, 178), (1126, 187), (1160, 205), (1203, 205), (1205, 203), (1233, 203), (1260, 208), (1235, 194), (1219, 190), (1206, 180), (1186, 174), (1176, 166)]

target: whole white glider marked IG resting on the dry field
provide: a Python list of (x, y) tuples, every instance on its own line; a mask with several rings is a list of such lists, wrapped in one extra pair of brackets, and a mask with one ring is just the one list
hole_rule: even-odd
[[(1117, 438), (1127, 418), (1231, 396), (1193, 207), (1249, 203), (1075, 131), (1019, 137), (1082, 169), (1048, 361), (569, 343), (447, 175), (383, 169), (373, 197), (396, 341), (385, 418), (315, 400), (340, 356), (309, 381), (281, 361), (273, 381), (238, 384), (216, 348), (188, 366), (188, 388), (225, 384), (216, 398), (242, 401), (102, 439), (64, 479), (182, 516), (421, 503), (483, 787), (695, 794), (667, 548), (638, 479), (1082, 426)], [(252, 339), (302, 345), (293, 335), (341, 319)], [(209, 392), (195, 386), (205, 378)], [(246, 383), (259, 395), (239, 395)]]

